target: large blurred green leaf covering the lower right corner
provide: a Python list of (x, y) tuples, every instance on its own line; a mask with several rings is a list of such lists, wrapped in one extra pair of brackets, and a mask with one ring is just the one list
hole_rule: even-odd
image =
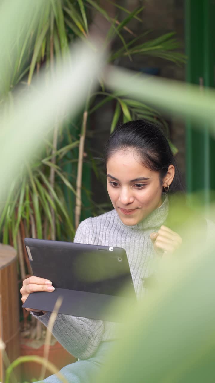
[[(214, 210), (213, 210), (214, 211)], [(212, 382), (215, 363), (215, 242), (196, 242), (156, 261), (156, 287), (126, 308), (120, 341), (96, 382)]]

